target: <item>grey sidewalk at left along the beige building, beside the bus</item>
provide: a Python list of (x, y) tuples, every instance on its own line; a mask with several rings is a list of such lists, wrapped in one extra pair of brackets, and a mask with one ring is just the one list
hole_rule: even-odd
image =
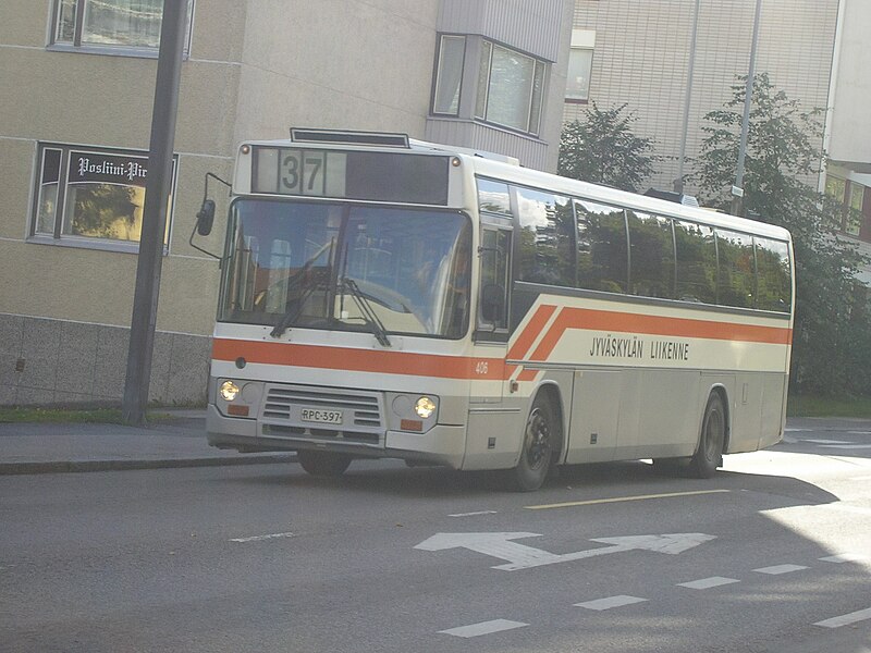
[(0, 475), (252, 465), (292, 453), (240, 454), (206, 442), (204, 410), (168, 410), (148, 428), (106, 423), (0, 423)]

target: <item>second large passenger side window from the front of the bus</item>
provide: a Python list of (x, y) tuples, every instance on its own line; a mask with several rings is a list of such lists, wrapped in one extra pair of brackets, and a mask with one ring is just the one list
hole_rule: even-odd
[(575, 201), (577, 217), (577, 286), (625, 293), (628, 285), (626, 218), (623, 209)]

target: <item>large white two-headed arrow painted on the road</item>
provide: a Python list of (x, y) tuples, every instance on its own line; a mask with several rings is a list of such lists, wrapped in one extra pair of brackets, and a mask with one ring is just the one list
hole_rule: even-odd
[(673, 533), (663, 535), (630, 535), (626, 538), (598, 538), (592, 542), (612, 544), (599, 549), (589, 549), (575, 553), (555, 554), (541, 549), (518, 544), (511, 540), (520, 538), (539, 538), (539, 533), (438, 533), (425, 540), (415, 549), (422, 551), (443, 551), (445, 549), (468, 549), (484, 555), (507, 560), (506, 565), (496, 565), (493, 569), (516, 571), (530, 569), (543, 565), (567, 563), (582, 558), (619, 553), (623, 551), (657, 551), (676, 555), (702, 542), (715, 539), (715, 535), (704, 533)]

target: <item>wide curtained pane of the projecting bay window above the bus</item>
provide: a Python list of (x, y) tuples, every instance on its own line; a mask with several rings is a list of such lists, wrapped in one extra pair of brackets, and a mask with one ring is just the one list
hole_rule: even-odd
[(483, 41), (475, 118), (538, 134), (544, 65), (516, 50)]

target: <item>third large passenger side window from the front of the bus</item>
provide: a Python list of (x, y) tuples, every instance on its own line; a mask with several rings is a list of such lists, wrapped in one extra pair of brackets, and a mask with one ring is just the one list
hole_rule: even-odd
[(629, 292), (674, 297), (674, 234), (668, 218), (626, 211), (629, 224)]

